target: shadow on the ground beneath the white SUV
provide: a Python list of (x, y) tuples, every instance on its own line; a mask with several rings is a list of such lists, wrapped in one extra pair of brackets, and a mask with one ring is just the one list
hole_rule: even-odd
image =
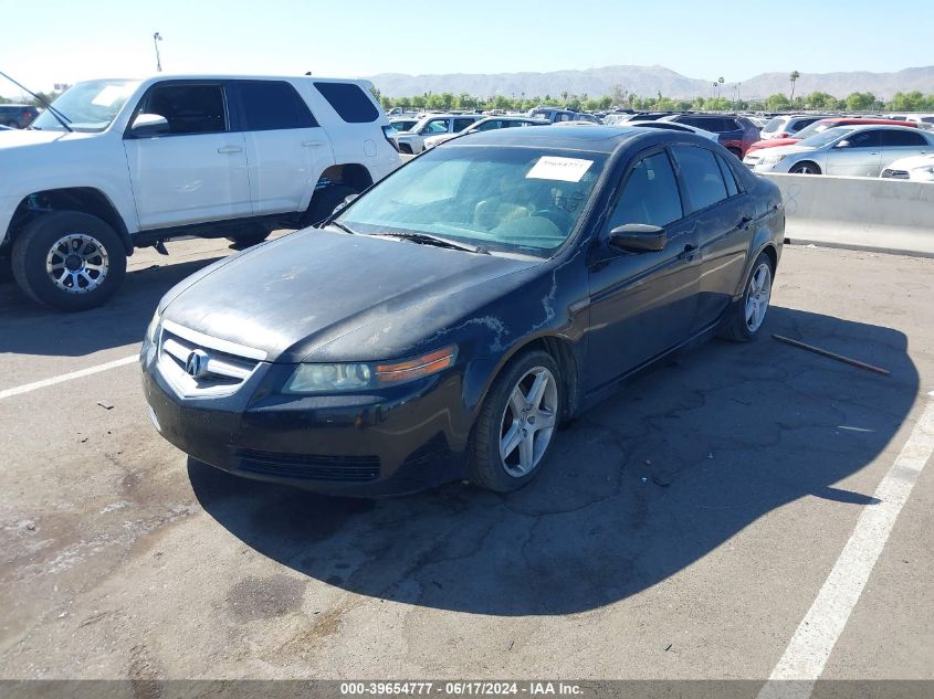
[(139, 342), (162, 295), (217, 260), (128, 271), (107, 304), (73, 314), (33, 303), (15, 284), (0, 284), (0, 353), (83, 357)]

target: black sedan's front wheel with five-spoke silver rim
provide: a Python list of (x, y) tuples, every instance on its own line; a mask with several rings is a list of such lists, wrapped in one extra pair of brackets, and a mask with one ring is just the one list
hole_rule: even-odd
[(497, 493), (532, 480), (549, 452), (564, 401), (558, 366), (547, 352), (526, 352), (506, 364), (476, 421), (471, 480)]

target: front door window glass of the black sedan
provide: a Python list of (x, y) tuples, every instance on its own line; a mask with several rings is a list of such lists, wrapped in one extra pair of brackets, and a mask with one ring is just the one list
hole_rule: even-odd
[(627, 223), (668, 225), (681, 215), (674, 171), (668, 156), (660, 152), (640, 160), (632, 168), (610, 214), (609, 230)]

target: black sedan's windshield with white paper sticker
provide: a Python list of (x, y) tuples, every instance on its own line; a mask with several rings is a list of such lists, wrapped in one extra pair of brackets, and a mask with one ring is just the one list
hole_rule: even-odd
[(431, 150), (348, 206), (365, 234), (428, 233), (547, 257), (574, 231), (606, 156), (538, 148)]

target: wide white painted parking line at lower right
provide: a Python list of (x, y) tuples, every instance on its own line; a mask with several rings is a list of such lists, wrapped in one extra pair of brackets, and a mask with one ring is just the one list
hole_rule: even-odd
[[(924, 465), (934, 454), (934, 391), (892, 468), (875, 488), (840, 558), (778, 660), (758, 699), (807, 699), (859, 602), (875, 561)], [(798, 681), (788, 681), (798, 680)]]

